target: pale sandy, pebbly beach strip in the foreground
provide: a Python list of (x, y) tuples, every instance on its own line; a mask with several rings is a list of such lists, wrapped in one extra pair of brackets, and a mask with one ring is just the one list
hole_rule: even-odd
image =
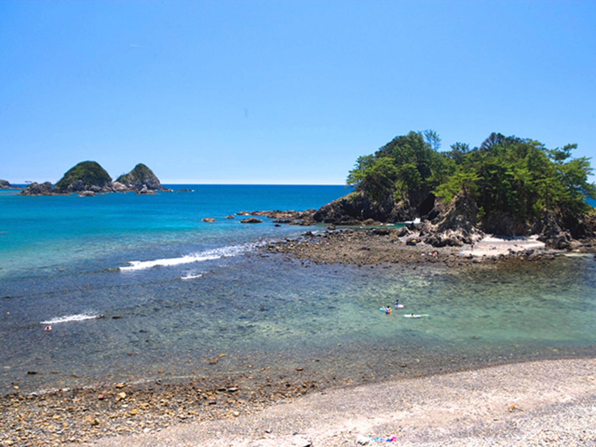
[(333, 389), (97, 445), (596, 446), (595, 377), (596, 358), (508, 364)]

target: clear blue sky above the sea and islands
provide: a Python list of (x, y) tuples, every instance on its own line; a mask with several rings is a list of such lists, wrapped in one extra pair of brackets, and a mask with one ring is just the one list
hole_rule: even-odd
[(596, 2), (0, 1), (14, 183), (95, 160), (163, 183), (343, 184), (424, 129), (442, 149), (494, 131), (596, 154)]

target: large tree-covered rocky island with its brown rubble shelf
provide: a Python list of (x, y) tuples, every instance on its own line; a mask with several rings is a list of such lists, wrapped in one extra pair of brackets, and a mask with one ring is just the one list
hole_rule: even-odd
[(414, 257), (420, 262), (420, 251), (428, 248), (449, 265), (460, 265), (441, 250), (473, 249), (486, 234), (496, 234), (511, 240), (534, 235), (545, 249), (594, 250), (596, 213), (585, 198), (596, 197), (596, 186), (587, 181), (589, 160), (571, 158), (576, 145), (547, 149), (533, 139), (493, 133), (471, 150), (462, 143), (447, 152), (439, 147), (433, 131), (397, 136), (359, 157), (347, 178), (352, 193), (302, 213), (299, 222), (296, 212), (263, 212), (292, 217), (275, 222), (323, 222), (331, 229), (418, 225), (331, 231), (323, 238), (307, 234), (267, 249), (316, 262), (377, 263)]

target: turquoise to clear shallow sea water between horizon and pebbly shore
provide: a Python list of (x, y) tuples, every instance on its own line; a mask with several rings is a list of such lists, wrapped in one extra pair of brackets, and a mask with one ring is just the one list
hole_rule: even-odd
[[(169, 187), (192, 191), (0, 190), (3, 390), (297, 365), (357, 383), (596, 353), (593, 256), (473, 271), (302, 263), (255, 248), (324, 226), (224, 217), (317, 208), (344, 187)], [(397, 298), (427, 316), (379, 311)]]

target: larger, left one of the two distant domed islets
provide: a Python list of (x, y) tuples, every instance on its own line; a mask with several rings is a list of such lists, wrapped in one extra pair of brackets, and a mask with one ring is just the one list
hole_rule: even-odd
[(64, 174), (54, 185), (58, 193), (67, 194), (79, 191), (111, 193), (114, 191), (110, 175), (97, 162), (80, 162)]

